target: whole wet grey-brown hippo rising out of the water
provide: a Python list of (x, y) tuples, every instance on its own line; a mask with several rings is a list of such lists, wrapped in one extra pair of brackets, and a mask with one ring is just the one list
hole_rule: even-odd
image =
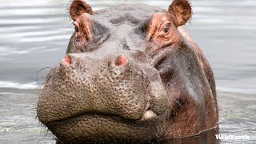
[(73, 0), (69, 12), (66, 56), (38, 92), (38, 120), (57, 143), (155, 142), (217, 126), (213, 70), (182, 29), (188, 0), (97, 11)]

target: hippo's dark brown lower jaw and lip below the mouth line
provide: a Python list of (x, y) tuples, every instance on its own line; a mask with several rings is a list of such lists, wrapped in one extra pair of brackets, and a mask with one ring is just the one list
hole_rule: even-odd
[[(150, 115), (149, 113), (151, 110), (147, 110), (144, 115)], [(94, 141), (107, 143), (108, 141), (112, 142), (113, 139), (116, 139), (117, 142), (144, 141), (144, 138), (147, 140), (162, 134), (159, 130), (162, 124), (159, 124), (159, 121), (162, 122), (164, 117), (162, 115), (155, 116), (144, 120), (143, 118), (132, 120), (114, 114), (86, 113), (48, 122), (45, 126), (60, 141), (66, 143), (94, 143)], [(140, 139), (141, 137), (144, 137), (143, 140)]]

